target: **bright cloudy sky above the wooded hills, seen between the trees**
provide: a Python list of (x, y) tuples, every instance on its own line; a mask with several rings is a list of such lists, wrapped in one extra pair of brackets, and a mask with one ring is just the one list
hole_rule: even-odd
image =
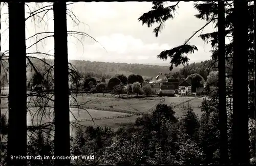
[[(197, 19), (195, 14), (198, 11), (193, 8), (195, 2), (180, 2), (179, 9), (175, 14), (175, 19), (165, 23), (162, 33), (155, 37), (154, 27), (147, 27), (138, 21), (138, 18), (145, 12), (150, 11), (150, 2), (92, 2), (92, 3), (67, 3), (67, 27), (68, 31), (80, 32), (83, 35), (69, 32), (68, 53), (69, 59), (120, 62), (120, 63), (140, 63), (140, 64), (160, 64), (169, 63), (157, 58), (157, 55), (166, 49), (183, 44), (193, 33), (199, 30), (206, 22)], [(51, 5), (49, 3), (28, 3), (31, 11), (42, 6)], [(169, 5), (169, 4), (167, 4)], [(29, 8), (26, 6), (26, 16), (29, 16)], [(50, 7), (49, 7), (50, 8)], [(48, 8), (44, 8), (48, 9)], [(72, 11), (74, 16), (69, 16)], [(1, 4), (1, 47), (8, 50), (8, 8)], [(40, 34), (30, 38), (36, 33), (53, 32), (53, 12), (50, 10), (43, 19), (44, 12), (26, 21), (26, 46), (27, 53), (32, 56), (40, 56), (36, 52), (54, 54), (53, 37), (41, 40), (36, 45), (30, 47), (40, 38), (49, 34)], [(79, 20), (79, 23), (78, 23)], [(215, 31), (209, 24), (203, 33)], [(201, 33), (201, 32), (200, 32)], [(200, 33), (198, 35), (200, 35)], [(84, 36), (84, 35), (90, 35)], [(189, 54), (191, 62), (201, 62), (210, 59), (211, 49), (196, 35), (190, 40), (190, 44), (196, 45), (198, 51)], [(45, 56), (44, 56), (45, 57)], [(51, 57), (45, 57), (51, 58)]]

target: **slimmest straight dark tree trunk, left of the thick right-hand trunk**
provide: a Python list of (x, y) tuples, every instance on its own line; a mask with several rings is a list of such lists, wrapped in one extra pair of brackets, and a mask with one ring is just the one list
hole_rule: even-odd
[(220, 129), (220, 163), (228, 162), (227, 109), (226, 109), (226, 59), (225, 59), (225, 4), (218, 2), (218, 68), (219, 68), (219, 129)]

